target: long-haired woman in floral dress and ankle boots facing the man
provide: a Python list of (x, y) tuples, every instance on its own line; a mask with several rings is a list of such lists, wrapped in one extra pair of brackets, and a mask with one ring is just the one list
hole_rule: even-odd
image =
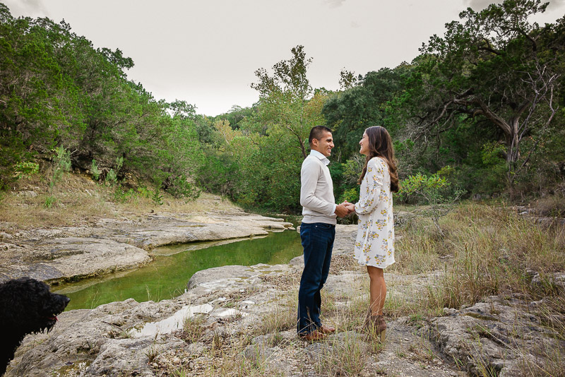
[(359, 215), (355, 259), (367, 265), (370, 306), (365, 328), (384, 341), (383, 306), (386, 284), (383, 269), (394, 263), (393, 192), (398, 192), (398, 173), (391, 136), (381, 126), (369, 127), (359, 141), (359, 153), (367, 156), (359, 177), (359, 201), (350, 204)]

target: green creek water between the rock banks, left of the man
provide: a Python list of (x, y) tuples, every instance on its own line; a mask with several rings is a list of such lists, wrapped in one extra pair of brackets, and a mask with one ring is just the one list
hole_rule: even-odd
[(222, 265), (288, 263), (302, 255), (300, 236), (293, 230), (229, 244), (200, 243), (165, 246), (152, 251), (153, 262), (136, 270), (53, 287), (71, 299), (66, 310), (92, 309), (130, 297), (160, 301), (184, 293), (194, 273)]

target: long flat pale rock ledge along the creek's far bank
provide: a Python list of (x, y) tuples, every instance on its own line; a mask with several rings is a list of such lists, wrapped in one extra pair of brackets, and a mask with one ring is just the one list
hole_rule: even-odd
[(282, 219), (240, 211), (208, 215), (148, 215), (144, 220), (102, 219), (94, 227), (33, 229), (2, 237), (0, 282), (28, 276), (47, 282), (80, 280), (136, 268), (151, 249), (220, 241), (291, 229)]

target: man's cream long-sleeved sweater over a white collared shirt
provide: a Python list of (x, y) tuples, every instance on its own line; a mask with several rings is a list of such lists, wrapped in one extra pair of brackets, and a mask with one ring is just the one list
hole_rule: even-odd
[(314, 152), (304, 159), (300, 170), (302, 222), (335, 225), (335, 198), (330, 169), (320, 160), (324, 156)]

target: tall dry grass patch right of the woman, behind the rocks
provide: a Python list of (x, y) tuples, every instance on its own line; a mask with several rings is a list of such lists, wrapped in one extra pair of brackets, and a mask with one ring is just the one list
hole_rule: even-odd
[(414, 220), (397, 242), (400, 273), (441, 270), (428, 289), (429, 309), (472, 305), (503, 291), (557, 294), (554, 285), (541, 289), (544, 285), (533, 286), (530, 280), (565, 270), (564, 227), (540, 226), (511, 208), (475, 203), (458, 206), (440, 226), (443, 237), (427, 219)]

